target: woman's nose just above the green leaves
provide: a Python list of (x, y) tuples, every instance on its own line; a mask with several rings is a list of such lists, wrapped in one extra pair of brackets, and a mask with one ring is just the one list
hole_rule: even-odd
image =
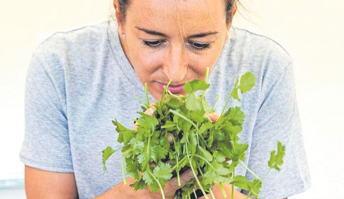
[(184, 83), (187, 73), (188, 61), (183, 43), (171, 43), (169, 50), (166, 52), (163, 72), (168, 79), (172, 79), (173, 84)]

